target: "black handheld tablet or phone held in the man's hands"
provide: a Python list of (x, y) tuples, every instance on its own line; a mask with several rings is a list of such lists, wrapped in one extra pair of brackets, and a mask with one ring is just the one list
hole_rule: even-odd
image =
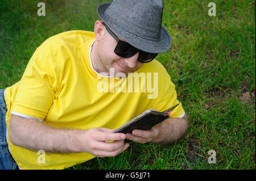
[(115, 129), (113, 133), (131, 133), (134, 129), (148, 130), (169, 117), (168, 113), (148, 110)]

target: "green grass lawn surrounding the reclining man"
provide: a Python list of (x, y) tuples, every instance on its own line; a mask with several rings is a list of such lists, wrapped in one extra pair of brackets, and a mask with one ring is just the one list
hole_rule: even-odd
[[(48, 37), (93, 31), (96, 7), (108, 1), (0, 2), (0, 88), (18, 82), (32, 53)], [(208, 3), (216, 16), (208, 16)], [(255, 1), (164, 1), (163, 26), (172, 47), (158, 60), (176, 85), (191, 121), (172, 146), (138, 144), (110, 158), (70, 169), (255, 169)], [(247, 95), (247, 99), (245, 96)], [(208, 163), (208, 151), (216, 163)]]

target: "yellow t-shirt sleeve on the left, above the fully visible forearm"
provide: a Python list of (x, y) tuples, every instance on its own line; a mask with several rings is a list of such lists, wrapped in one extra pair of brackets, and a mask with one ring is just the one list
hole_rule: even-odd
[(19, 82), (13, 112), (45, 119), (58, 90), (56, 64), (49, 52), (36, 49)]

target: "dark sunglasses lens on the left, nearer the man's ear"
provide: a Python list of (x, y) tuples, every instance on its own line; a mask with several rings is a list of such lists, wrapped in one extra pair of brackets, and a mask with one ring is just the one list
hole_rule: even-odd
[(115, 47), (114, 52), (123, 58), (129, 58), (134, 56), (138, 52), (136, 48), (131, 46), (129, 43), (124, 41), (118, 41), (117, 47)]

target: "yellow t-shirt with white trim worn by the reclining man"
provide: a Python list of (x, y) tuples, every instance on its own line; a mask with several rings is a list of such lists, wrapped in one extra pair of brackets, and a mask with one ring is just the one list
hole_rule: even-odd
[[(49, 37), (36, 49), (20, 81), (5, 90), (7, 131), (11, 113), (33, 117), (54, 127), (116, 129), (143, 111), (164, 111), (179, 103), (175, 85), (156, 60), (135, 72), (141, 75), (138, 86), (134, 85), (134, 74), (129, 75), (135, 77), (130, 83), (129, 76), (113, 79), (98, 74), (90, 60), (94, 39), (93, 32), (68, 31)], [(143, 75), (148, 76), (143, 79)], [(114, 82), (115, 89), (110, 82)], [(127, 91), (122, 89), (125, 83)], [(108, 91), (104, 91), (106, 85)], [(180, 104), (171, 117), (182, 115)], [(14, 146), (9, 134), (7, 138), (21, 169), (64, 169), (94, 158), (89, 153), (46, 153), (45, 162), (38, 162), (40, 152)]]

